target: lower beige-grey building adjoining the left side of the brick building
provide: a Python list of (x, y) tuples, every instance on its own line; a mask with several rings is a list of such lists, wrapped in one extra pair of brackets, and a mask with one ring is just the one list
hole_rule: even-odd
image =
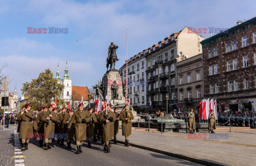
[(189, 57), (177, 63), (178, 78), (178, 111), (188, 112), (194, 109), (199, 111), (199, 102), (204, 98), (203, 94), (203, 55)]

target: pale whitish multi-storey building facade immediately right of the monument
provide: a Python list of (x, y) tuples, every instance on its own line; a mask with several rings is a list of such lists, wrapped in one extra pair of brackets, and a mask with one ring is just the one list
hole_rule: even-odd
[[(128, 60), (127, 98), (134, 111), (146, 108), (146, 58), (143, 52), (134, 55)], [(119, 69), (122, 81), (126, 82), (126, 64)]]

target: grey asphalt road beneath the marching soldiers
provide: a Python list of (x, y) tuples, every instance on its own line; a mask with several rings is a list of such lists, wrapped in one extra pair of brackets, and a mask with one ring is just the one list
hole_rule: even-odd
[(92, 148), (87, 148), (84, 142), (81, 154), (75, 154), (76, 145), (72, 149), (65, 146), (56, 146), (45, 151), (38, 146), (38, 140), (30, 139), (28, 151), (25, 155), (25, 164), (28, 165), (200, 165), (180, 160), (174, 157), (141, 150), (136, 147), (125, 147), (122, 144), (112, 145), (110, 153), (103, 151), (103, 145), (92, 142)]

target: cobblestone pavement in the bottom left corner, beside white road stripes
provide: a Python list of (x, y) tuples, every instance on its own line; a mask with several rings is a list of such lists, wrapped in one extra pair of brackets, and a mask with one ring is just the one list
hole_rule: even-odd
[(14, 134), (17, 125), (9, 125), (3, 130), (0, 127), (0, 165), (14, 165)]

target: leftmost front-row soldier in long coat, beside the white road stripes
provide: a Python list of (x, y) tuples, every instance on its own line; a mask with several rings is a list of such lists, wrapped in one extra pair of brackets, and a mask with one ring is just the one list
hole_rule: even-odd
[(25, 105), (25, 111), (22, 111), (17, 117), (20, 123), (19, 138), (21, 139), (22, 145), (21, 150), (28, 150), (29, 138), (33, 137), (33, 120), (35, 116), (32, 111), (30, 111), (30, 105)]

